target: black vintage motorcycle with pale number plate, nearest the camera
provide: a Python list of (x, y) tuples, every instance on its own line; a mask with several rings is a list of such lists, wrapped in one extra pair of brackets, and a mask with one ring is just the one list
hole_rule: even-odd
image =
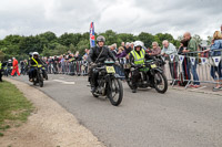
[[(120, 105), (123, 98), (123, 87), (120, 76), (115, 74), (114, 62), (105, 61), (103, 64), (98, 64), (94, 70), (99, 72), (99, 76), (97, 91), (92, 95), (94, 97), (107, 96), (112, 105)], [(91, 84), (91, 80), (89, 81)]]

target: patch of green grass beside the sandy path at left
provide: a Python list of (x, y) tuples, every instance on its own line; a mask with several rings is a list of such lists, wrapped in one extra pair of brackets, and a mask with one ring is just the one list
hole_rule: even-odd
[(24, 123), (32, 111), (32, 104), (13, 84), (0, 82), (0, 136), (3, 130)]

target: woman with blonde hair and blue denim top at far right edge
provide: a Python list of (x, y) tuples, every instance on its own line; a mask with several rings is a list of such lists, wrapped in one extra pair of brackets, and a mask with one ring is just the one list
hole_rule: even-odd
[[(222, 34), (220, 31), (215, 31), (213, 34), (213, 44), (209, 50), (205, 50), (204, 52), (211, 51), (211, 56), (221, 56), (222, 52)], [(215, 82), (222, 82), (222, 63), (220, 61), (219, 65), (211, 65), (211, 76)], [(218, 73), (219, 77), (215, 75)], [(216, 84), (215, 87), (213, 87), (213, 91), (222, 90), (221, 84)]]

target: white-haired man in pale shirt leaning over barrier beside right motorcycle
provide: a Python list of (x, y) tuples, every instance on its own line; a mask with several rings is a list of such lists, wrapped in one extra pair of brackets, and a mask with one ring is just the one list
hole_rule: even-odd
[[(169, 66), (170, 66), (170, 73), (171, 73), (172, 80), (178, 80), (178, 57), (175, 57), (175, 55), (178, 54), (176, 49), (172, 43), (169, 43), (168, 40), (164, 40), (162, 44), (163, 44), (163, 49), (161, 51), (161, 54), (165, 56), (167, 59), (169, 59)], [(174, 55), (173, 60), (170, 59), (171, 55)], [(178, 82), (172, 82), (170, 84), (176, 85)]]

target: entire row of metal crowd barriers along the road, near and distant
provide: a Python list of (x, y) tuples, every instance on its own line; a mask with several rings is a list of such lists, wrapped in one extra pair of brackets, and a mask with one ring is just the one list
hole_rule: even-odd
[[(185, 88), (191, 83), (222, 84), (222, 51), (215, 51), (220, 52), (220, 55), (212, 56), (203, 51), (198, 51), (186, 54), (170, 54), (168, 57), (161, 56), (167, 62), (163, 69), (168, 80), (172, 81), (172, 86), (175, 83), (185, 84)], [(129, 61), (121, 57), (119, 62), (121, 67), (115, 66), (115, 71), (120, 76), (124, 76), (124, 69), (129, 69)], [(47, 69), (48, 73), (88, 75), (87, 61), (48, 64)]]

